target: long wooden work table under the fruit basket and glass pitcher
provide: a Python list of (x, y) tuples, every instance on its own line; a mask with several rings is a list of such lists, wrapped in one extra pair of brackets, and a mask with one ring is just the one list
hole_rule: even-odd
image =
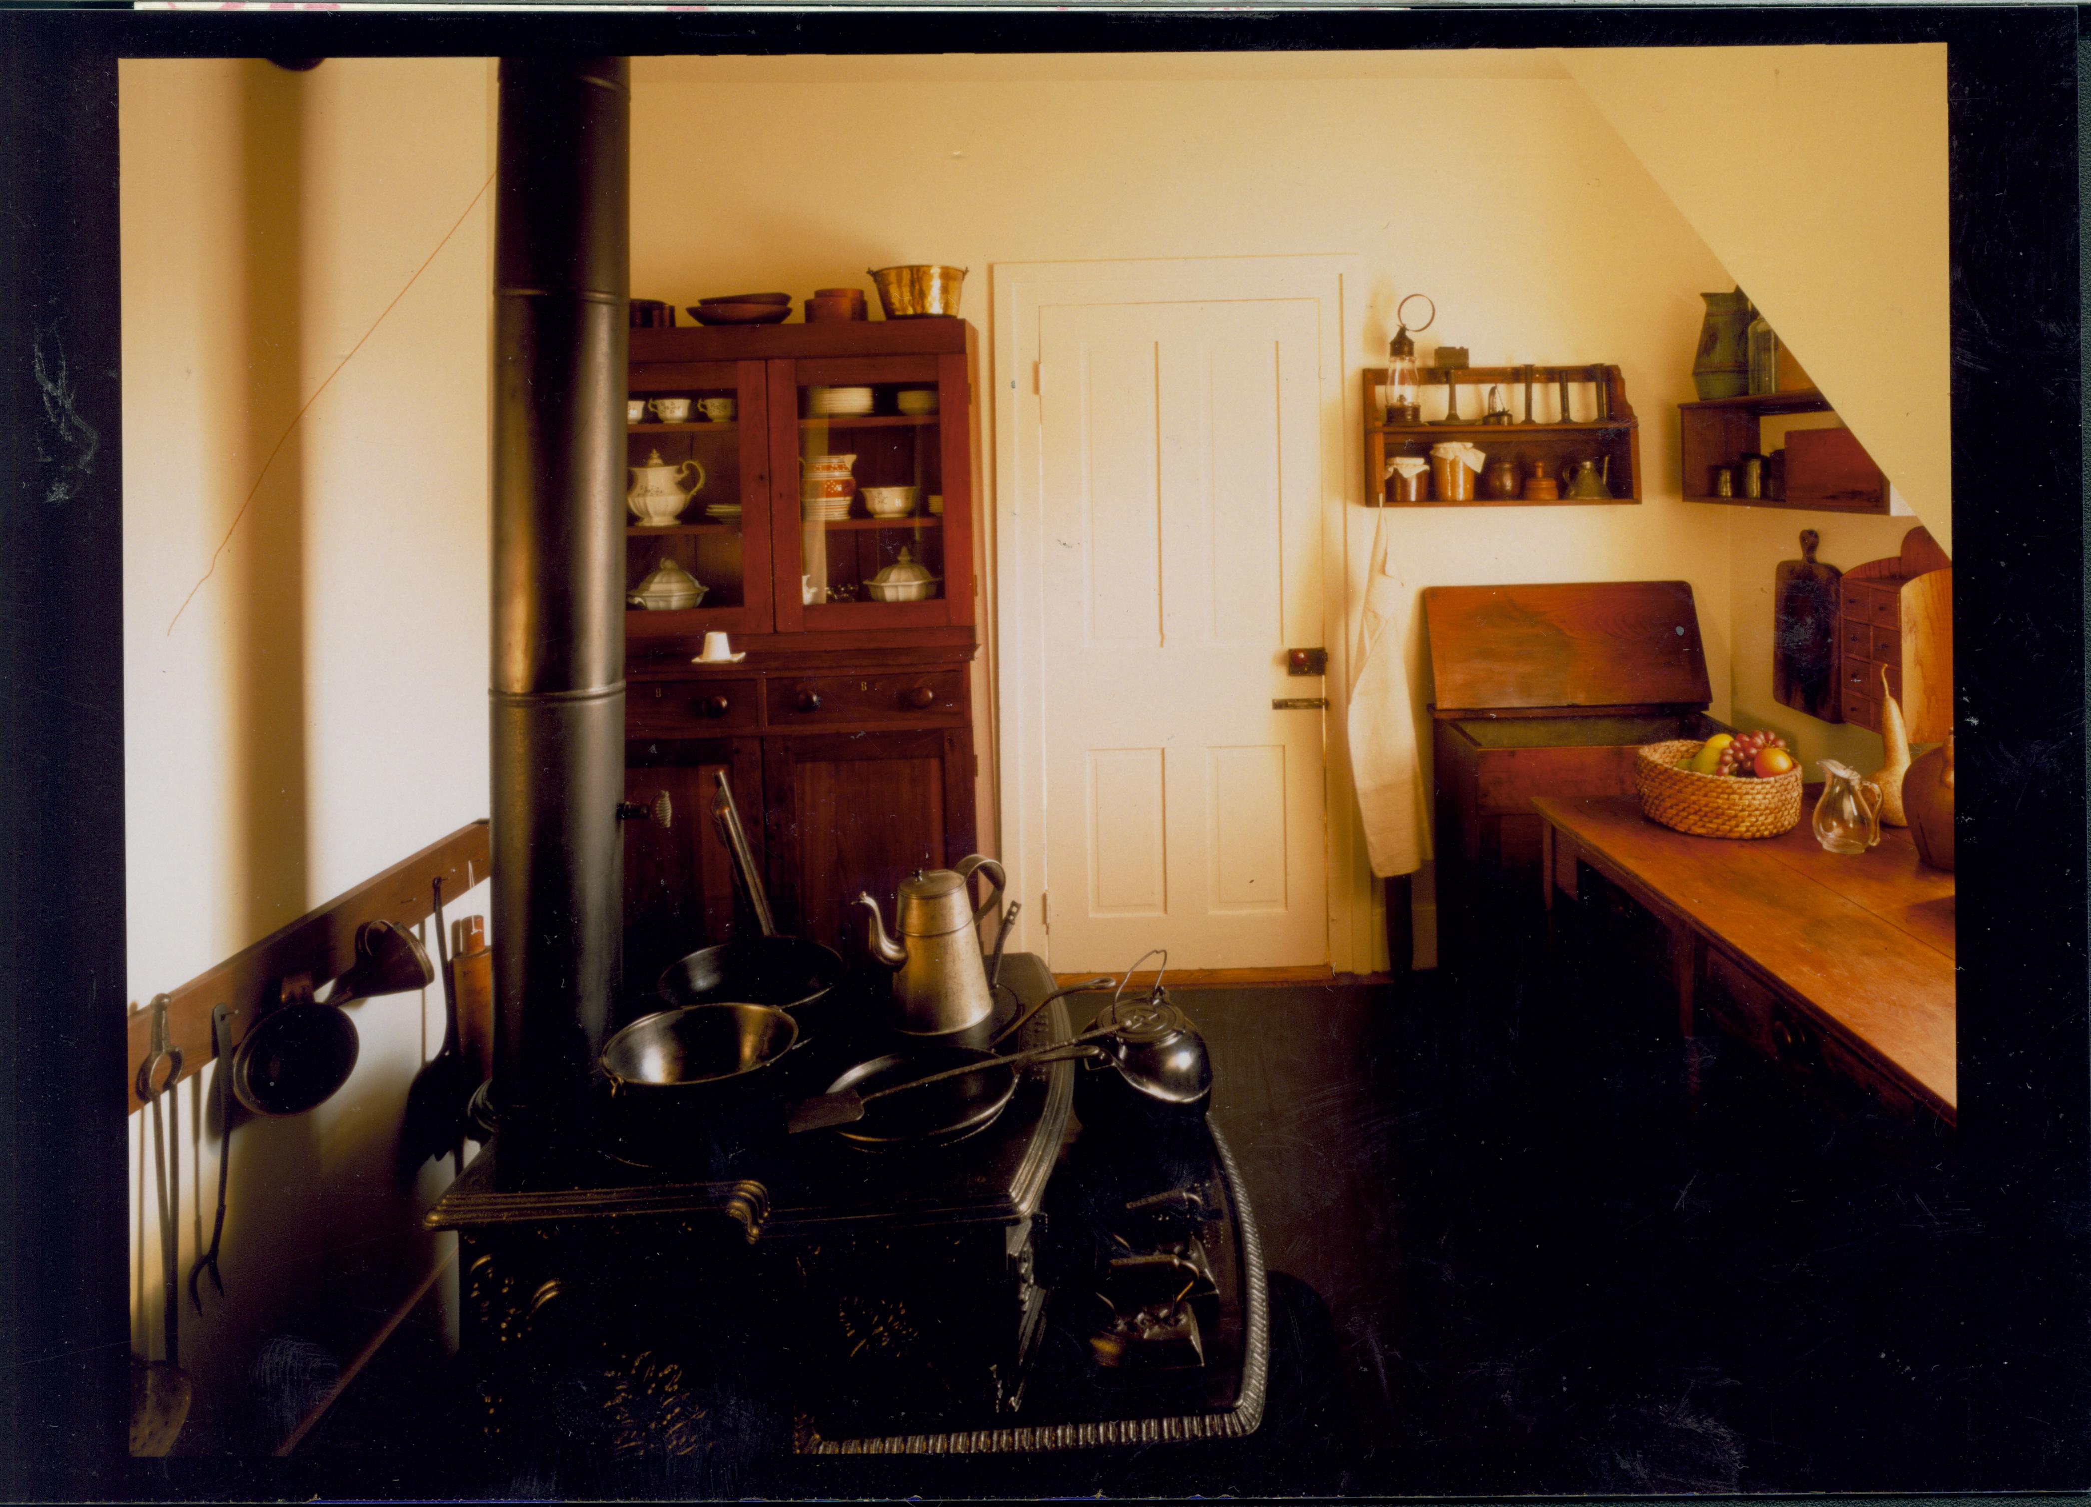
[(1631, 795), (1533, 802), (1545, 900), (1585, 867), (1652, 917), (1679, 1026), (1715, 1026), (1788, 1074), (1899, 1114), (1955, 1120), (1953, 875), (1884, 827), (1871, 852), (1823, 852), (1802, 820), (1782, 837), (1690, 837)]

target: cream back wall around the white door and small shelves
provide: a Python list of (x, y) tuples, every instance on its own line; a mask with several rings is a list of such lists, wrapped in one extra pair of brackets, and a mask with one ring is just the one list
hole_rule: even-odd
[[(1355, 253), (1353, 435), (1357, 370), (1382, 360), (1395, 303), (1418, 289), (1441, 310), (1426, 356), (1443, 339), (1476, 364), (1616, 362), (1641, 417), (1641, 507), (1391, 513), (1395, 557), (1414, 590), (1690, 580), (1727, 710), (1729, 517), (1679, 502), (1675, 481), (1698, 293), (1725, 272), (1539, 54), (640, 59), (631, 182), (634, 293), (803, 297), (864, 268), (945, 262), (972, 268), (964, 312), (991, 343), (995, 262)], [(1355, 444), (1328, 511), (1353, 605), (1376, 519), (1355, 507)], [(1414, 605), (1407, 622), (1426, 737)]]

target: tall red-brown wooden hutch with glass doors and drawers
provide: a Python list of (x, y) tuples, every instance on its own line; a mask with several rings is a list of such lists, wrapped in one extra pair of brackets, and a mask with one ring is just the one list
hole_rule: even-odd
[[(686, 421), (650, 406), (627, 463), (677, 467), (682, 490), (703, 479), (671, 523), (627, 513), (627, 590), (663, 561), (705, 588), (694, 607), (634, 597), (625, 613), (625, 793), (667, 791), (677, 812), (665, 831), (625, 823), (634, 982), (751, 925), (709, 816), (717, 770), (778, 925), (845, 952), (857, 890), (889, 898), (912, 869), (972, 852), (974, 366), (956, 318), (631, 331), (631, 398), (692, 406)], [(801, 498), (805, 473), (841, 465), (811, 467), (822, 456), (853, 456), (847, 511)], [(912, 507), (872, 517), (868, 488), (914, 488)], [(878, 580), (893, 565), (930, 580), (895, 592)], [(692, 663), (707, 632), (744, 657)]]

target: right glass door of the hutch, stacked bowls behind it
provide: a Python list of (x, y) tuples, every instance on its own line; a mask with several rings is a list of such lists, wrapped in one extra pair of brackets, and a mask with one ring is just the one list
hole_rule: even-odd
[(795, 423), (772, 425), (790, 444), (788, 471), (784, 442), (774, 463), (776, 553), (797, 563), (778, 571), (780, 630), (970, 622), (968, 393), (964, 356), (956, 387), (949, 362), (780, 362), (772, 406)]

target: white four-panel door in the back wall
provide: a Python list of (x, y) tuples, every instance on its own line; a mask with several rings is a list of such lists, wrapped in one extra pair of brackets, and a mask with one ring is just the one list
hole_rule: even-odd
[(1046, 883), (1056, 971), (1328, 961), (1313, 299), (1048, 306)]

